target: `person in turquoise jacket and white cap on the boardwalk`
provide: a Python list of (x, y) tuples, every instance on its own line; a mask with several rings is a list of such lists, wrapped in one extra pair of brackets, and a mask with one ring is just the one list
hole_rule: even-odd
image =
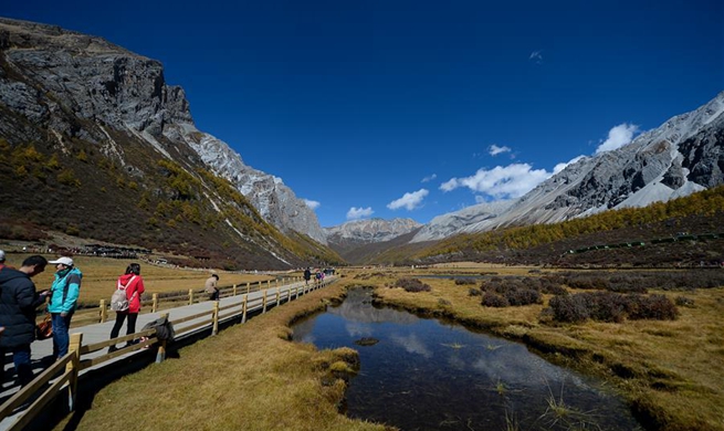
[(56, 270), (48, 311), (53, 322), (53, 356), (60, 359), (67, 354), (67, 330), (81, 293), (83, 273), (73, 265), (71, 257), (63, 256), (48, 263), (54, 264)]

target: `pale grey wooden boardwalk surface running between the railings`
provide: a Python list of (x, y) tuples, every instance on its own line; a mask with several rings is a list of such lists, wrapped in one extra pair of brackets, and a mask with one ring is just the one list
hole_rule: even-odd
[[(329, 277), (318, 286), (315, 286), (312, 282), (309, 282), (309, 285), (306, 287), (304, 281), (301, 281), (284, 286), (262, 290), (258, 292), (250, 292), (248, 294), (239, 294), (235, 296), (222, 297), (219, 301), (219, 308), (221, 308), (222, 311), (228, 308), (233, 308), (234, 311), (219, 313), (220, 316), (219, 324), (223, 324), (224, 322), (233, 320), (233, 319), (239, 320), (239, 318), (242, 315), (242, 311), (244, 308), (245, 308), (244, 316), (246, 314), (259, 313), (260, 311), (267, 309), (267, 307), (283, 305), (288, 301), (294, 301), (296, 297), (302, 296), (305, 293), (308, 293), (311, 288), (324, 287), (325, 285), (334, 281), (335, 281), (334, 277)], [(246, 304), (245, 307), (244, 307), (244, 301)], [(198, 336), (199, 333), (202, 333), (204, 330), (208, 332), (210, 328), (212, 328), (213, 323), (210, 320), (210, 318), (212, 317), (213, 312), (214, 312), (214, 302), (204, 301), (191, 305), (160, 309), (156, 313), (143, 313), (138, 315), (138, 320), (136, 323), (136, 332), (140, 332), (144, 325), (146, 325), (147, 323), (161, 317), (161, 315), (164, 314), (168, 314), (169, 320), (174, 323), (174, 329), (177, 334), (176, 338), (178, 341), (181, 341), (185, 338)], [(202, 315), (198, 317), (189, 318), (191, 316), (199, 315), (199, 314)], [(175, 322), (177, 320), (185, 320), (185, 322), (175, 324)], [(115, 316), (109, 322), (78, 326), (78, 327), (73, 327), (73, 323), (71, 322), (71, 329), (69, 333), (71, 335), (83, 334), (83, 345), (103, 343), (103, 341), (107, 341), (111, 338), (111, 329), (113, 328), (114, 323), (115, 323)], [(127, 323), (124, 323), (119, 336), (124, 336), (126, 334), (126, 325)], [(189, 328), (191, 330), (189, 330)], [(125, 343), (119, 343), (117, 347), (120, 348), (124, 345)], [(31, 350), (32, 350), (31, 360), (33, 366), (33, 372), (38, 376), (50, 364), (53, 364), (53, 358), (52, 358), (53, 340), (45, 339), (45, 340), (34, 341), (31, 345)], [(106, 367), (115, 361), (125, 360), (133, 355), (138, 355), (145, 351), (145, 349), (138, 349), (138, 350), (128, 349), (127, 354), (123, 354), (123, 350), (124, 349), (119, 349), (119, 353), (116, 354), (118, 356), (114, 355), (114, 357), (111, 359), (107, 359), (97, 365), (93, 365), (91, 367), (82, 369), (80, 371), (80, 376), (83, 376), (84, 374), (90, 372), (94, 369)], [(101, 357), (106, 355), (107, 353), (108, 349), (103, 348), (97, 351), (91, 351), (88, 354), (84, 354), (82, 355), (81, 359), (83, 361), (94, 358), (98, 358), (98, 360), (103, 360), (103, 358)], [(11, 376), (14, 377), (14, 367), (12, 365), (12, 361), (4, 365), (4, 372), (6, 374), (2, 382), (2, 388), (0, 389), (0, 402), (6, 402), (8, 398), (10, 398), (13, 393), (15, 393), (19, 390), (18, 386), (14, 385), (13, 381), (14, 379), (11, 379)], [(15, 419), (18, 419), (19, 416), (22, 416), (23, 412), (24, 411), (17, 411), (14, 414), (10, 414), (6, 418), (0, 418), (0, 431), (8, 430), (11, 427), (11, 424), (15, 421)]]

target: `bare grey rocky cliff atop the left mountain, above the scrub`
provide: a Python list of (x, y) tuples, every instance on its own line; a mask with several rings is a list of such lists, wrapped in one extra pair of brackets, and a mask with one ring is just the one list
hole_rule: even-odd
[(166, 158), (174, 158), (169, 147), (188, 147), (266, 221), (325, 242), (314, 212), (281, 179), (244, 165), (225, 143), (196, 128), (183, 90), (166, 83), (159, 62), (101, 38), (7, 19), (0, 19), (0, 49), (7, 65), (0, 103), (18, 116), (2, 122), (3, 135), (46, 138), (23, 126), (27, 119), (42, 124), (59, 145), (63, 136), (84, 139), (122, 164), (126, 149), (114, 145), (111, 129), (135, 136)]

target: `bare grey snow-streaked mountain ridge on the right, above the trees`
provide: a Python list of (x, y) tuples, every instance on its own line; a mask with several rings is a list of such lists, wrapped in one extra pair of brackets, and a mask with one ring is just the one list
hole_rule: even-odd
[(644, 207), (724, 183), (723, 170), (724, 92), (621, 148), (578, 159), (507, 208), (483, 204), (440, 216), (411, 242)]

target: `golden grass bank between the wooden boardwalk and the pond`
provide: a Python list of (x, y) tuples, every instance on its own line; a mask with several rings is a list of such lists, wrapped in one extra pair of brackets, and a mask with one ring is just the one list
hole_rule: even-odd
[(317, 351), (284, 339), (290, 320), (342, 292), (342, 286), (313, 292), (181, 349), (179, 359), (124, 377), (94, 397), (77, 429), (387, 429), (337, 412), (346, 383), (334, 377), (332, 366), (354, 361), (354, 350)]

